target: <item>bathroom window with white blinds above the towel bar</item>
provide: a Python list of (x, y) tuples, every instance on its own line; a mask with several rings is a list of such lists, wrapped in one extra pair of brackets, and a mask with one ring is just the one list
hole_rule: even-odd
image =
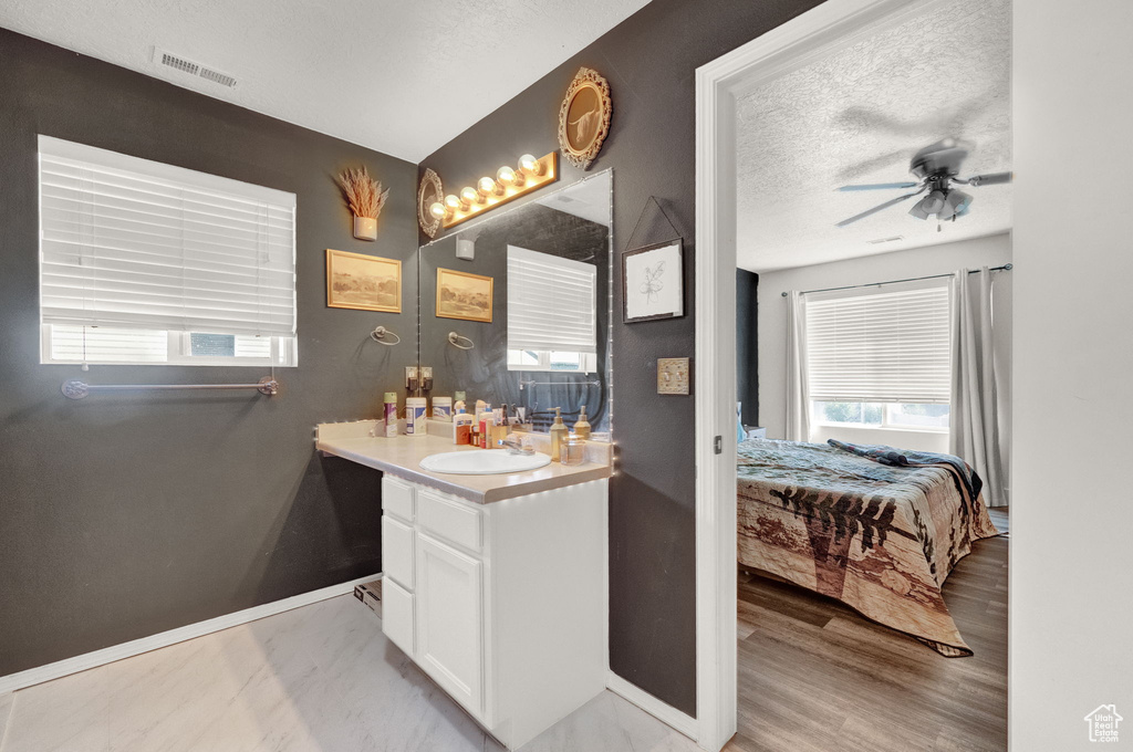
[(295, 207), (40, 136), (42, 361), (297, 365)]

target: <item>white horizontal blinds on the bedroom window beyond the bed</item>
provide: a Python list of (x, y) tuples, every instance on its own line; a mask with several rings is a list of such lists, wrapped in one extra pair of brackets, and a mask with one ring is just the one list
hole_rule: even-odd
[(947, 282), (806, 297), (810, 399), (947, 403)]

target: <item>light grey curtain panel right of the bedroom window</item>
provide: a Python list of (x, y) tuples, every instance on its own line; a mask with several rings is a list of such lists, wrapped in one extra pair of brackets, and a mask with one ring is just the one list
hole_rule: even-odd
[(999, 405), (991, 334), (991, 272), (953, 275), (952, 454), (962, 458), (983, 479), (989, 506), (1005, 506)]

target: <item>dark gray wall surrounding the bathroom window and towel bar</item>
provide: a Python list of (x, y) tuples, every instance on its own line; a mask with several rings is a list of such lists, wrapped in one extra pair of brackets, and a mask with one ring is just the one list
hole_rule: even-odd
[[(59, 393), (266, 369), (39, 365), (37, 134), (298, 195), (282, 396)], [(370, 243), (332, 181), (358, 164), (391, 188)], [(377, 417), (414, 362), (416, 265), (403, 314), (330, 309), (324, 249), (411, 259), (415, 188), (408, 162), (0, 29), (0, 675), (381, 570), (378, 473), (316, 456), (312, 427)]]

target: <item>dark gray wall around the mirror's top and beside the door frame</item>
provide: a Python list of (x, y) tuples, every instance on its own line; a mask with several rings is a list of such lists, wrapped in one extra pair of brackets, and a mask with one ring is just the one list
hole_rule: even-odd
[[(614, 168), (614, 248), (625, 249), (656, 196), (684, 237), (689, 311), (627, 325), (616, 315), (620, 294), (614, 302), (619, 473), (610, 499), (610, 660), (620, 676), (688, 713), (696, 713), (693, 404), (691, 396), (657, 395), (656, 361), (693, 353), (695, 71), (816, 5), (654, 0), (421, 163), (454, 191), (520, 154), (546, 154), (557, 148), (559, 105), (578, 68), (610, 80), (613, 123), (591, 170)], [(583, 174), (561, 164), (564, 183)], [(633, 245), (671, 234), (653, 212)], [(619, 290), (616, 257), (614, 267)]]

